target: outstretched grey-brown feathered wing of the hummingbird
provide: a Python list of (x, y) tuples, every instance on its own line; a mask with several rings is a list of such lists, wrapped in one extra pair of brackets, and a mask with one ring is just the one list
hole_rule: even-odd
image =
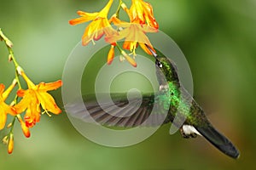
[(108, 127), (153, 127), (165, 122), (166, 114), (160, 114), (162, 107), (154, 102), (157, 94), (129, 96), (125, 94), (97, 94), (84, 96), (83, 103), (74, 102), (65, 108), (70, 115), (84, 122), (95, 122)]

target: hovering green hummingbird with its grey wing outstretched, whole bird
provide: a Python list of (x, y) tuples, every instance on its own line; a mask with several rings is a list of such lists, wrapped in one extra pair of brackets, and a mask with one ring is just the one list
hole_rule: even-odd
[(83, 105), (87, 111), (77, 103), (68, 105), (67, 110), (73, 116), (84, 120), (92, 117), (108, 127), (137, 127), (143, 124), (158, 126), (172, 122), (179, 128), (183, 138), (200, 135), (225, 155), (238, 158), (240, 154), (235, 145), (212, 126), (201, 106), (183, 88), (175, 63), (154, 53), (151, 48), (148, 49), (154, 56), (159, 92), (131, 99), (124, 97), (124, 94), (111, 94), (111, 102), (104, 97), (106, 95), (101, 94), (101, 102), (96, 102), (91, 97), (84, 99)]

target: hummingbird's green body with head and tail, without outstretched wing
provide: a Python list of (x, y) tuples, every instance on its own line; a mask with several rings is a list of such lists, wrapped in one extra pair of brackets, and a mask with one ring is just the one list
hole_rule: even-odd
[[(183, 125), (180, 128), (183, 137), (195, 138), (196, 135), (201, 135), (227, 156), (238, 158), (240, 154), (235, 145), (212, 126), (205, 112), (201, 109), (201, 106), (198, 105), (195, 99), (183, 88), (178, 80), (177, 68), (173, 61), (166, 57), (160, 57), (155, 54), (153, 50), (148, 49), (154, 55), (155, 65), (164, 73), (168, 83), (165, 84), (164, 87), (166, 86), (171, 94), (170, 110), (168, 114), (170, 115), (171, 122), (173, 122), (173, 117), (176, 116), (174, 112), (177, 110), (178, 105), (181, 107), (181, 115), (185, 117)], [(158, 77), (158, 79), (159, 82), (164, 82), (162, 81), (162, 77)]]

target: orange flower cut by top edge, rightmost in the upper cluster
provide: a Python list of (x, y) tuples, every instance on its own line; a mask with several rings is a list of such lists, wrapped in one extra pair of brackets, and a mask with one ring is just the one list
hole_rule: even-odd
[(143, 0), (132, 0), (129, 16), (132, 23), (148, 24), (148, 26), (158, 29), (158, 23), (154, 19), (153, 8), (150, 3)]

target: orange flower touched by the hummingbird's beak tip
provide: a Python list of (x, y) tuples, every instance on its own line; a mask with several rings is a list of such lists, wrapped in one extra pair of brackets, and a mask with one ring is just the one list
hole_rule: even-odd
[(135, 54), (135, 49), (139, 44), (146, 53), (151, 54), (151, 52), (148, 50), (145, 44), (148, 44), (148, 47), (152, 48), (152, 50), (154, 50), (154, 48), (151, 42), (148, 40), (148, 37), (146, 36), (145, 33), (156, 32), (157, 29), (154, 29), (153, 27), (146, 26), (146, 25), (140, 25), (140, 24), (121, 21), (115, 16), (113, 16), (112, 21), (113, 21), (113, 24), (115, 24), (116, 26), (124, 27), (125, 29), (119, 31), (119, 35), (114, 35), (112, 37), (106, 38), (106, 41), (113, 43), (125, 38), (123, 48), (128, 49), (133, 54)]

